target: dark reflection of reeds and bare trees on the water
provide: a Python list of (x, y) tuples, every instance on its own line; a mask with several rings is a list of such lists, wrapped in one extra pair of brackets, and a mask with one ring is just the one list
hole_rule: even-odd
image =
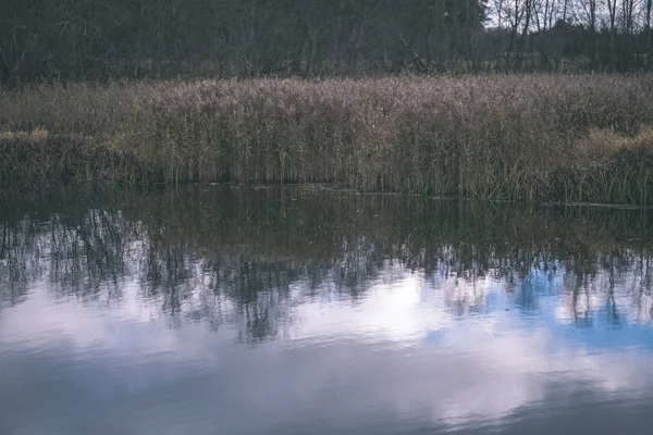
[(40, 279), (56, 298), (116, 304), (136, 281), (171, 326), (229, 324), (257, 343), (283, 334), (301, 303), (357, 303), (416, 273), (455, 315), (488, 310), (494, 283), (523, 313), (555, 295), (559, 321), (619, 327), (653, 316), (651, 217), (306, 186), (4, 190), (0, 307)]

